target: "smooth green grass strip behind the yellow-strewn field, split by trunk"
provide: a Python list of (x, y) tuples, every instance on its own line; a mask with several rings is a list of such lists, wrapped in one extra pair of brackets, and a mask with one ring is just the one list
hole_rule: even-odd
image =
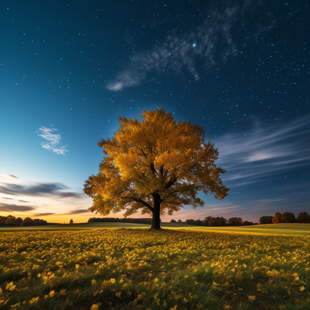
[[(12, 231), (55, 231), (55, 230), (84, 230), (98, 228), (150, 228), (151, 225), (131, 224), (131, 223), (75, 223), (75, 224), (58, 224), (37, 227), (0, 227), (0, 232)], [(255, 232), (268, 234), (284, 235), (310, 235), (310, 224), (266, 224), (255, 226), (237, 226), (237, 227), (202, 227), (180, 223), (162, 222), (162, 228), (169, 229), (194, 229), (210, 232)]]

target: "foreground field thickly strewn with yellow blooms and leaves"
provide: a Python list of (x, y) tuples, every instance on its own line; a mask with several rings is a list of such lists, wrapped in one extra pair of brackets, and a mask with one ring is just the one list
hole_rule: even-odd
[(2, 232), (0, 259), (4, 309), (310, 309), (302, 235)]

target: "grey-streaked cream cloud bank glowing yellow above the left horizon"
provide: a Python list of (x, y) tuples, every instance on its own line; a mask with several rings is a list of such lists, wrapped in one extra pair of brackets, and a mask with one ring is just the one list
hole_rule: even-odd
[(91, 198), (62, 183), (25, 181), (0, 174), (0, 195), (0, 212), (16, 217), (49, 216), (50, 222), (58, 222), (57, 216), (61, 215), (64, 217), (61, 221), (65, 222), (70, 215), (83, 217), (90, 213), (87, 208), (91, 206)]

